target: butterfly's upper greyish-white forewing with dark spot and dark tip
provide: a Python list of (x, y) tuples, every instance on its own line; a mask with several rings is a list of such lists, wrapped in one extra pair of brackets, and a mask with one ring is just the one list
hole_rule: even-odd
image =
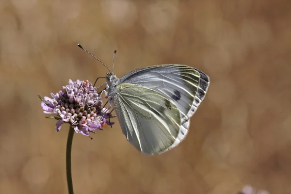
[(187, 65), (154, 65), (136, 69), (122, 77), (117, 84), (131, 83), (150, 88), (170, 99), (178, 108), (181, 117), (176, 142), (177, 146), (187, 135), (190, 117), (204, 99), (209, 87), (209, 77)]

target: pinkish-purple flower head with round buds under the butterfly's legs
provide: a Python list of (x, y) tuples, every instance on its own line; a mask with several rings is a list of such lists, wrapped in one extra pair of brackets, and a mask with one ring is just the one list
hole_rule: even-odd
[(69, 84), (63, 86), (61, 91), (50, 95), (52, 98), (39, 97), (44, 113), (53, 115), (48, 118), (58, 120), (56, 131), (61, 129), (63, 123), (68, 123), (74, 126), (77, 133), (89, 136), (89, 132), (95, 129), (114, 124), (106, 121), (112, 115), (108, 108), (102, 108), (101, 97), (88, 81), (69, 80)]

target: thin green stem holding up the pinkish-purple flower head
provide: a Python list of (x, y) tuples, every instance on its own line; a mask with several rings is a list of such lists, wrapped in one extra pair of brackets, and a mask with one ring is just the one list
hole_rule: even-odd
[(66, 174), (67, 174), (69, 194), (74, 194), (73, 181), (72, 181), (72, 169), (71, 169), (71, 150), (72, 150), (72, 142), (73, 142), (74, 133), (75, 133), (75, 130), (73, 126), (70, 125), (68, 139), (67, 139), (67, 147), (66, 147)]

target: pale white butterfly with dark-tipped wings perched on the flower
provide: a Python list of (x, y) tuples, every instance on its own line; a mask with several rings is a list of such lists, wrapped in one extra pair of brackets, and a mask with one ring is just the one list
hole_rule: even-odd
[(139, 68), (121, 79), (109, 70), (106, 81), (108, 102), (123, 134), (140, 152), (150, 155), (166, 152), (186, 137), (190, 117), (210, 84), (202, 71), (179, 64)]

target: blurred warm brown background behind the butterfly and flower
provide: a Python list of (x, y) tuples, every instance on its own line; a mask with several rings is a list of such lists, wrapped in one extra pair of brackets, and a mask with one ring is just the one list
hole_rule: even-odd
[[(69, 79), (186, 64), (210, 76), (175, 149), (146, 156), (119, 124), (75, 135), (76, 194), (291, 194), (290, 0), (0, 0), (0, 194), (65, 194), (68, 126), (37, 94)], [(98, 81), (101, 84), (102, 81)], [(115, 119), (117, 122), (117, 119)]]

